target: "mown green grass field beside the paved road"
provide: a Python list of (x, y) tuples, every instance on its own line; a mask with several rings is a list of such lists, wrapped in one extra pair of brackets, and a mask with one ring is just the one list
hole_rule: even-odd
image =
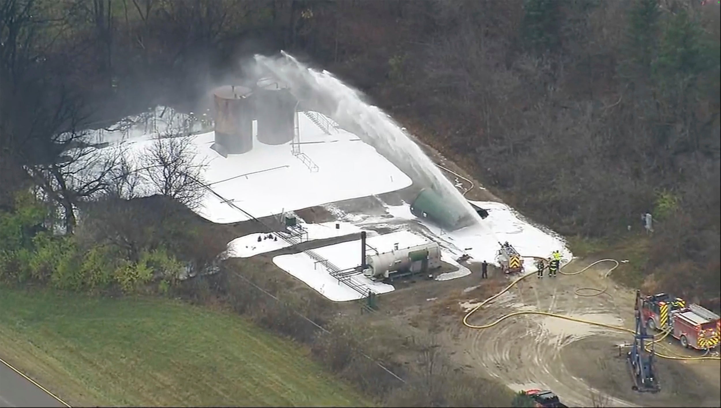
[(0, 288), (0, 357), (71, 405), (368, 405), (293, 342), (160, 298)]

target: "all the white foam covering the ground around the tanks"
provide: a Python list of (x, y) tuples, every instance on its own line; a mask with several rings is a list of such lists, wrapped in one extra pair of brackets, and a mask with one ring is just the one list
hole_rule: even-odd
[[(186, 119), (183, 115), (173, 114), (170, 115), (169, 123), (161, 123), (161, 125), (165, 128), (177, 127), (178, 123)], [(132, 159), (131, 161), (139, 164), (140, 157), (146, 148), (151, 147), (154, 137), (161, 133), (160, 128), (162, 128), (159, 125), (149, 126), (147, 123), (142, 126), (142, 128), (135, 126), (122, 135), (118, 130), (110, 133), (95, 131), (92, 138), (96, 139), (96, 142), (110, 142), (111, 146), (120, 144), (125, 148), (125, 154)], [(197, 131), (198, 126), (196, 123), (186, 126), (185, 129)], [(154, 131), (145, 133), (151, 128)], [(301, 145), (304, 154), (317, 164), (318, 172), (310, 172), (298, 157), (291, 154), (290, 142), (269, 146), (254, 138), (254, 147), (251, 151), (245, 154), (231, 154), (223, 158), (210, 148), (214, 141), (213, 132), (193, 136), (191, 141), (193, 149), (197, 152), (196, 161), (208, 164), (203, 177), (212, 190), (252, 216), (271, 216), (315, 205), (325, 205), (340, 219), (355, 224), (353, 226), (342, 223), (340, 231), (335, 230), (335, 223), (326, 223), (332, 226), (330, 228), (324, 224), (308, 224), (311, 240), (353, 234), (368, 225), (404, 229), (407, 226), (402, 224), (406, 221), (422, 224), (428, 230), (425, 233), (428, 238), (441, 245), (442, 260), (459, 267), (458, 271), (441, 274), (435, 278), (436, 280), (469, 275), (470, 270), (455, 261), (463, 254), (469, 254), (472, 257), (471, 262), (486, 260), (497, 265), (496, 253), (499, 249), (499, 241), (509, 241), (524, 257), (549, 257), (554, 250), (561, 251), (566, 259), (570, 260), (572, 257), (562, 239), (531, 225), (503, 203), (473, 202), (487, 209), (488, 217), (477, 226), (451, 232), (443, 231), (433, 223), (413, 216), (408, 203), (386, 206), (387, 214), (381, 217), (344, 214), (330, 203), (400, 190), (410, 186), (411, 179), (353, 133), (335, 129), (327, 135), (303, 113), (298, 113), (298, 132), (301, 142), (320, 142)], [(142, 192), (143, 188), (141, 187), (140, 190)], [(146, 187), (147, 195), (151, 194), (149, 191)], [(216, 223), (234, 223), (249, 219), (247, 214), (211, 193), (205, 194), (203, 205), (197, 212), (200, 216)], [(384, 239), (399, 241), (400, 247), (425, 242), (425, 239), (417, 234), (409, 231), (399, 232), (407, 232), (410, 235), (389, 237), (392, 234), (386, 234), (386, 238), (376, 241), (375, 245), (383, 248), (378, 248), (379, 251), (390, 250), (395, 243), (386, 242)], [(288, 243), (281, 239), (278, 241), (261, 239), (258, 242), (257, 236), (251, 234), (231, 241), (229, 244), (231, 256), (250, 257), (288, 246)], [(368, 239), (369, 243), (371, 238)], [(335, 246), (325, 247), (318, 249), (317, 252), (327, 252), (322, 256), (332, 257), (331, 262), (341, 269), (358, 265), (360, 244), (356, 241), (338, 245), (341, 247), (336, 249), (328, 249)], [(276, 265), (288, 270), (296, 278), (304, 280), (324, 295), (328, 293), (328, 298), (341, 301), (361, 297), (346, 285), (339, 285), (335, 278), (327, 275), (327, 271), (318, 272), (319, 268), (324, 269), (324, 267), (314, 267), (313, 262), (306, 255), (283, 255), (283, 257), (285, 258), (275, 257), (274, 262), (278, 260)], [(298, 266), (293, 267), (291, 260), (298, 262)], [(526, 258), (524, 263), (527, 272), (534, 270), (531, 258)], [(356, 276), (354, 279), (367, 280), (368, 287), (373, 287), (377, 293), (393, 290), (391, 285), (373, 283), (363, 276)]]

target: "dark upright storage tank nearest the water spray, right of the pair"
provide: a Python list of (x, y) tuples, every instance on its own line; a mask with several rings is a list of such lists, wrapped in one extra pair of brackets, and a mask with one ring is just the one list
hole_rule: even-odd
[(260, 79), (255, 89), (258, 141), (270, 145), (293, 140), (296, 98), (288, 85), (276, 79)]

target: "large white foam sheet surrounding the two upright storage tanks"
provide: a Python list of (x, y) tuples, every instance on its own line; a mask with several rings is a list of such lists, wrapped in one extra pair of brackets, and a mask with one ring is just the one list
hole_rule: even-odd
[[(353, 133), (335, 129), (327, 135), (303, 113), (298, 113), (298, 132), (303, 143), (321, 142), (301, 145), (301, 151), (317, 164), (317, 172), (291, 154), (290, 142), (270, 146), (254, 138), (251, 151), (224, 158), (211, 149), (214, 132), (190, 138), (197, 151), (195, 162), (207, 163), (203, 177), (211, 189), (257, 218), (392, 192), (412, 184), (410, 177)], [(108, 141), (117, 142), (115, 138)], [(152, 143), (151, 136), (143, 135), (129, 139), (123, 147), (129, 157), (138, 159)], [(205, 194), (198, 213), (215, 223), (249, 219), (212, 193)]]

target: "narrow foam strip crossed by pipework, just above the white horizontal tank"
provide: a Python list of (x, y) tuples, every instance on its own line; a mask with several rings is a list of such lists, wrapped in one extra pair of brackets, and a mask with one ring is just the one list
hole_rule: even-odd
[[(308, 231), (308, 240), (313, 241), (315, 239), (327, 239), (335, 238), (336, 236), (344, 236), (349, 234), (357, 234), (361, 232), (361, 229), (354, 226), (352, 223), (345, 222), (329, 222), (329, 223), (298, 223), (306, 231)], [(335, 224), (340, 226), (340, 229), (335, 228)], [(282, 233), (276, 233), (282, 234)], [(375, 234), (373, 231), (368, 231), (368, 234)], [(290, 247), (291, 244), (278, 238), (264, 239), (268, 236), (268, 233), (256, 233), (240, 236), (229, 242), (228, 244), (228, 256), (235, 258), (248, 258), (253, 257), (257, 254), (265, 254), (265, 252), (273, 252), (278, 249)], [(273, 235), (275, 237), (275, 235)], [(260, 241), (258, 238), (260, 237)]]

